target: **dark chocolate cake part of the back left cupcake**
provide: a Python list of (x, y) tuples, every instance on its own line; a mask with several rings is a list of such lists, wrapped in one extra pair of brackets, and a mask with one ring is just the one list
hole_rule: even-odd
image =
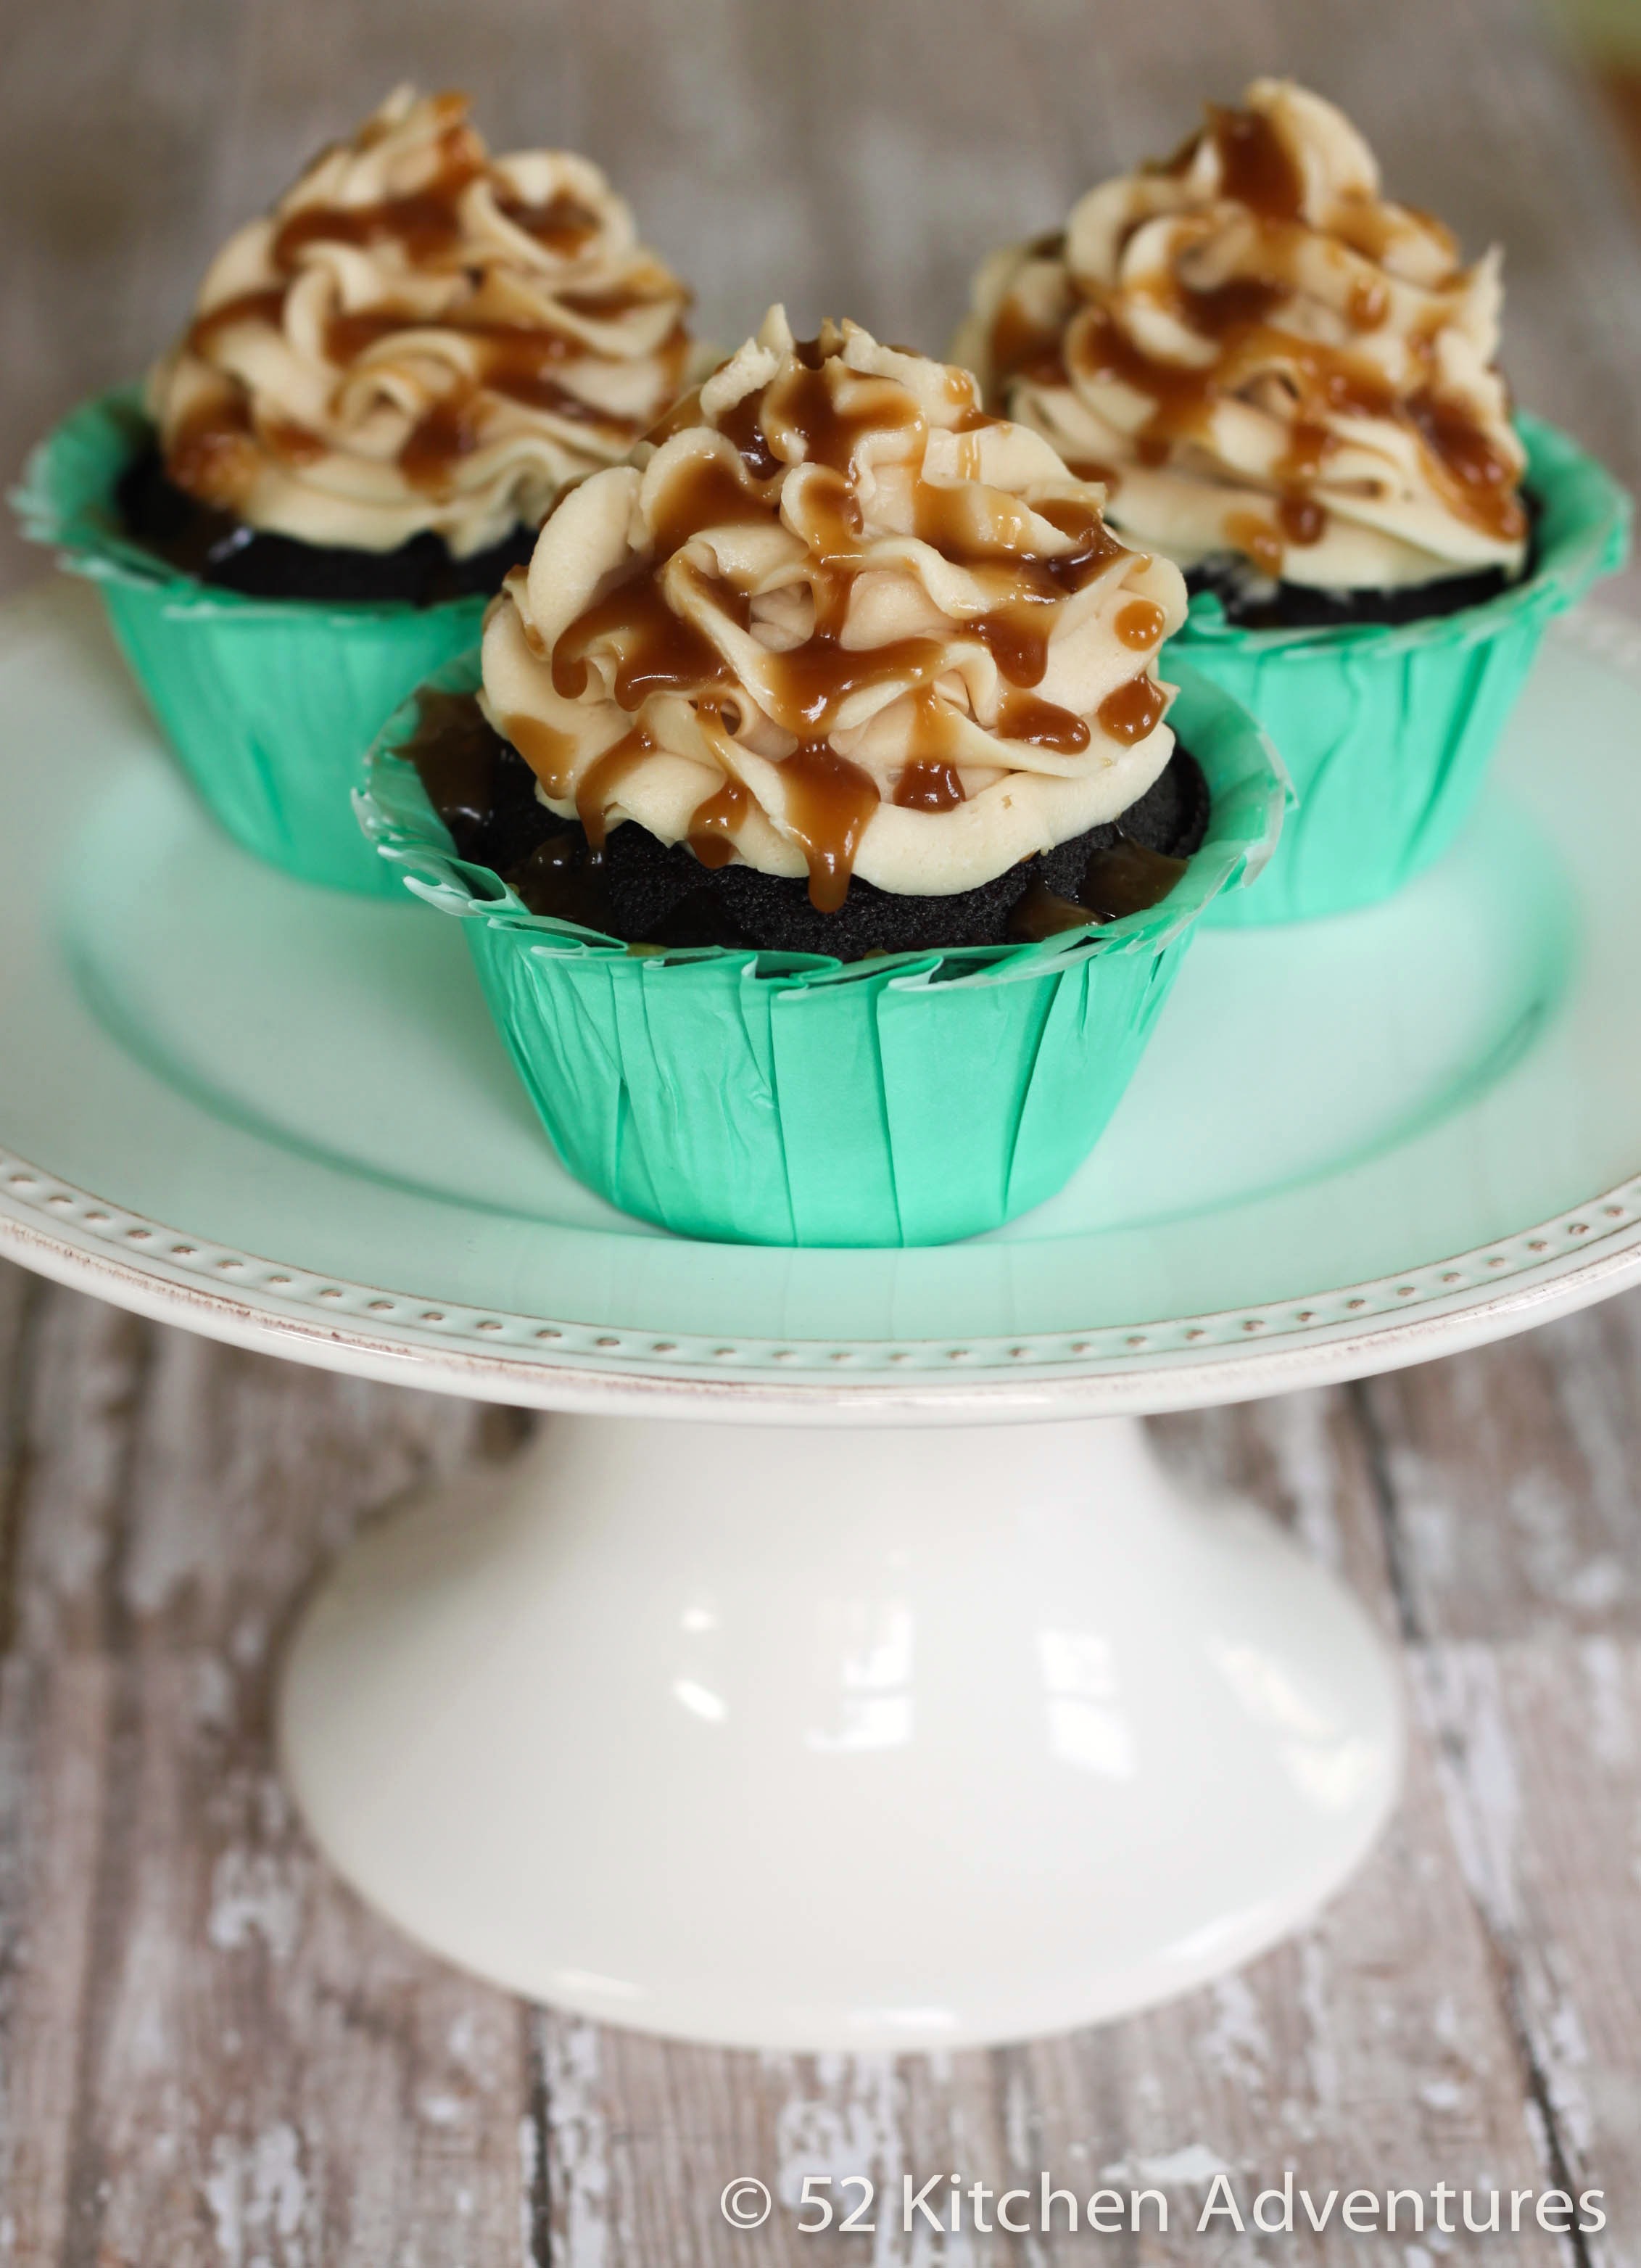
[(247, 599), (408, 599), (413, 606), (440, 606), (487, 596), (510, 567), (530, 558), (535, 544), (535, 528), (524, 526), (469, 558), (453, 558), (444, 538), (433, 533), (413, 535), (397, 551), (270, 535), (177, 488), (165, 476), (156, 442), (125, 469), (116, 501), (134, 542), (199, 583)]

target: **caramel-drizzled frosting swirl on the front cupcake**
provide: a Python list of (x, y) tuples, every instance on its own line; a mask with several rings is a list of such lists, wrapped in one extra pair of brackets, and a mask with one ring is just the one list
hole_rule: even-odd
[(963, 370), (771, 308), (571, 488), (485, 621), (483, 705), (594, 844), (941, 896), (1115, 819), (1174, 746), (1185, 587)]

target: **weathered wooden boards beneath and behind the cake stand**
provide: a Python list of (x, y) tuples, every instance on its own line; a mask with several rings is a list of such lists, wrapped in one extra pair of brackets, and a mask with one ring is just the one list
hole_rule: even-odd
[[(7, 465), (141, 367), (229, 225), (399, 77), (469, 86), (499, 145), (603, 159), (709, 336), (780, 295), (800, 327), (854, 313), (938, 347), (984, 245), (1170, 147), (1204, 95), (1292, 70), (1355, 111), (1396, 191), (1505, 240), (1521, 395), (1641, 472), (1632, 191), (1530, 0), (5, 0), (0, 54)], [(7, 581), (39, 572), (5, 542)], [(1641, 2261), (1641, 1295), (1158, 1429), (1290, 1517), (1398, 1642), (1405, 1808), (1312, 1932), (1217, 1989), (929, 2062), (598, 2032), (417, 1955), (317, 1864), (267, 1746), (292, 1608), (356, 1520), (512, 1454), (528, 1420), (14, 1270), (0, 1381), (0, 2261), (1083, 2259), (1086, 2234), (809, 2241), (784, 2204), (757, 2234), (719, 2211), (741, 2173), (791, 2198), (805, 2173), (1045, 2166), (1172, 2182), (1181, 2207), (1215, 2166), (1244, 2198), (1283, 2166), (1317, 2191), (1602, 2189), (1591, 2239), (1335, 2218), (1231, 2252)], [(1192, 2220), (1117, 2245), (1226, 2254)]]

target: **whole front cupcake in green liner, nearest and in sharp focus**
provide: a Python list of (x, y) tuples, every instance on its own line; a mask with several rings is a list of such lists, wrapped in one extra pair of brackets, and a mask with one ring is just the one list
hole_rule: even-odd
[(583, 1182), (698, 1236), (963, 1236), (1065, 1182), (1274, 837), (1258, 730), (1158, 674), (1183, 615), (966, 372), (775, 308), (560, 497), (360, 816), (469, 916)]

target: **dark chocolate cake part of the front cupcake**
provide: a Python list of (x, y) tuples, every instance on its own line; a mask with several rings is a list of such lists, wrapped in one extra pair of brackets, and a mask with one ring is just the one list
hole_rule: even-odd
[(535, 773), (490, 728), (474, 696), (424, 694), (419, 730), (401, 753), (415, 762), (462, 860), (487, 866), (530, 912), (635, 946), (750, 946), (857, 962), (1018, 943), (1156, 905), (1208, 830), (1208, 782), (1176, 746), (1120, 819), (979, 889), (898, 896), (857, 878), (839, 912), (823, 914), (798, 875), (707, 869), (685, 844), (662, 844), (632, 821), (594, 850), (578, 823), (546, 810)]

